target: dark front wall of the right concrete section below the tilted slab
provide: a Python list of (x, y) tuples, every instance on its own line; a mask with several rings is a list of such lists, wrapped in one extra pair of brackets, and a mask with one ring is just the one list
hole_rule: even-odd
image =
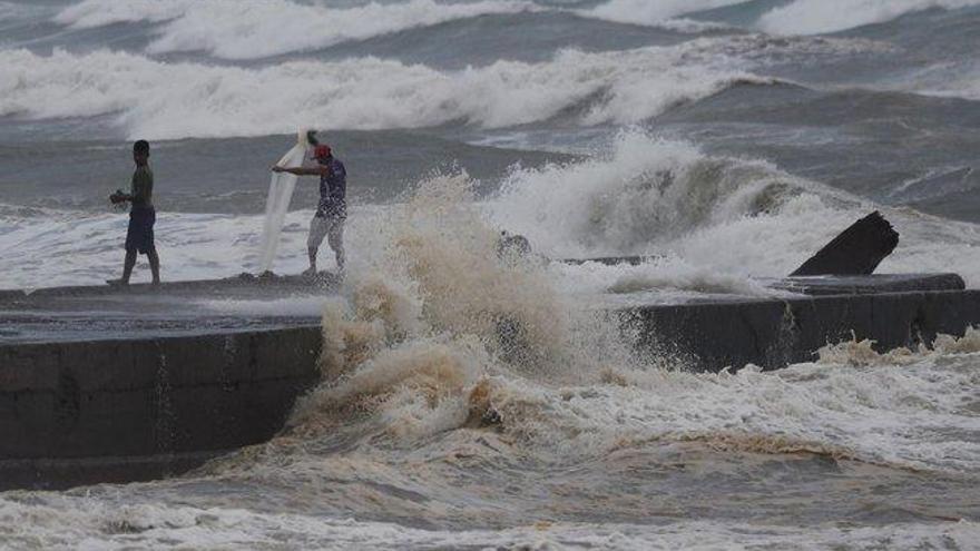
[(940, 333), (961, 336), (980, 325), (980, 291), (641, 306), (618, 315), (640, 350), (673, 355), (690, 370), (774, 370), (852, 338), (872, 340), (884, 352), (931, 345)]

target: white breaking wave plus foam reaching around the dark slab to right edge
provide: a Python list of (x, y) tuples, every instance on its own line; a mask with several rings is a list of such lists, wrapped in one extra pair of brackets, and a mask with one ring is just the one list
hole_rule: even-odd
[[(746, 278), (785, 276), (875, 208), (766, 163), (710, 157), (641, 132), (621, 135), (605, 156), (518, 170), (488, 205), (498, 226), (550, 257), (663, 257), (637, 268), (564, 268), (582, 288), (618, 282), (747, 294), (756, 287)], [(952, 270), (980, 286), (980, 226), (881, 209), (902, 240), (880, 272)]]

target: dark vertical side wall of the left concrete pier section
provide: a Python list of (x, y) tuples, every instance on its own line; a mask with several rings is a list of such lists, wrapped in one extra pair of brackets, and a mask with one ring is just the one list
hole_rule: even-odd
[(255, 444), (320, 381), (318, 327), (0, 346), (0, 457)]

